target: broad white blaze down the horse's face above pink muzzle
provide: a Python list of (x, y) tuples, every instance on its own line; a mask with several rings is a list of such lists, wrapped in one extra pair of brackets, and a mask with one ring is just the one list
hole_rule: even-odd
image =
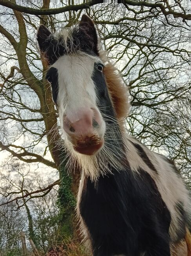
[(77, 54), (61, 56), (52, 66), (58, 70), (57, 103), (62, 131), (64, 115), (76, 115), (84, 108), (98, 110), (96, 88), (92, 80), (95, 63), (102, 61), (79, 51)]

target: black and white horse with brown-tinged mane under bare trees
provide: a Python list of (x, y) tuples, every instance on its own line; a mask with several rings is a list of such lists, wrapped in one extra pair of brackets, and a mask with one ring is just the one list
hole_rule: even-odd
[[(81, 169), (76, 211), (93, 256), (187, 256), (190, 199), (175, 165), (129, 136), (127, 87), (94, 22), (37, 33), (67, 167)], [(188, 246), (188, 249), (187, 249)]]

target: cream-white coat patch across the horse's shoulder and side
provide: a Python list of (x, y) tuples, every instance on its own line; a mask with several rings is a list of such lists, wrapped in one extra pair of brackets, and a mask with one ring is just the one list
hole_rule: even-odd
[[(171, 240), (176, 241), (176, 234), (178, 233), (180, 223), (182, 222), (181, 214), (178, 212), (176, 204), (181, 202), (187, 213), (190, 213), (191, 209), (189, 193), (184, 181), (175, 173), (174, 167), (163, 156), (152, 152), (133, 137), (128, 136), (127, 140), (129, 141), (127, 142), (127, 148), (129, 148), (127, 159), (131, 169), (136, 171), (140, 167), (149, 173), (153, 180), (155, 180), (158, 191), (171, 214), (171, 224), (169, 228)], [(158, 174), (151, 170), (137, 152), (135, 152), (136, 148), (131, 144), (131, 141), (143, 148)]]

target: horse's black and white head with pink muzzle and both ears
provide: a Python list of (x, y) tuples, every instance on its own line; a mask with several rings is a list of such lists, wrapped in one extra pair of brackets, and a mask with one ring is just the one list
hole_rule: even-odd
[(76, 152), (93, 155), (104, 146), (106, 123), (109, 125), (116, 113), (95, 26), (83, 15), (78, 26), (63, 30), (58, 37), (40, 26), (37, 40), (49, 64), (47, 80), (65, 140)]

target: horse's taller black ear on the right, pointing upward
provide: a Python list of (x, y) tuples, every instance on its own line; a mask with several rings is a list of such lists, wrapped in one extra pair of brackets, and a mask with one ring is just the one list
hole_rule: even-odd
[(93, 21), (85, 14), (80, 20), (79, 30), (83, 33), (86, 44), (98, 55), (98, 36)]

